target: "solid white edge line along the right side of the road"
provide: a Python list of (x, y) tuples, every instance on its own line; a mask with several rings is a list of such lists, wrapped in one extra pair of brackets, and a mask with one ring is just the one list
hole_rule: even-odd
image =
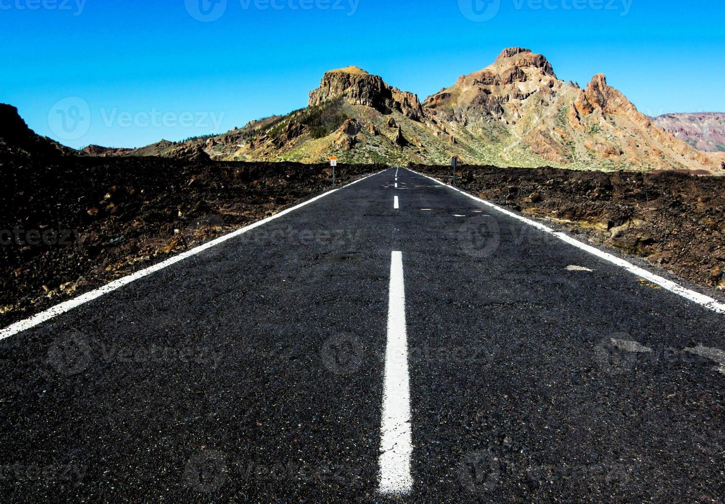
[[(410, 168), (407, 168), (407, 170), (410, 170)], [(589, 252), (589, 254), (595, 255), (599, 257), (600, 259), (603, 259), (605, 261), (608, 261), (609, 263), (612, 263), (613, 265), (619, 266), (621, 268), (624, 268), (625, 270), (629, 271), (630, 273), (633, 273), (634, 275), (638, 276), (639, 278), (644, 278), (647, 281), (652, 282), (653, 284), (656, 284), (663, 289), (667, 289), (670, 292), (674, 292), (674, 294), (678, 294), (679, 296), (684, 297), (685, 299), (689, 299), (689, 301), (696, 302), (698, 305), (701, 305), (705, 308), (708, 308), (709, 310), (713, 310), (716, 313), (723, 313), (725, 314), (725, 304), (718, 302), (716, 299), (713, 299), (712, 297), (706, 296), (705, 294), (700, 294), (700, 292), (695, 292), (691, 289), (687, 289), (686, 287), (676, 284), (676, 282), (668, 280), (667, 278), (663, 278), (661, 276), (655, 275), (655, 273), (651, 273), (650, 271), (645, 270), (644, 268), (639, 268), (639, 266), (635, 266), (632, 263), (629, 263), (629, 261), (626, 261), (622, 259), (621, 257), (616, 257), (616, 255), (612, 255), (608, 252), (604, 252), (600, 249), (597, 249), (595, 247), (592, 247), (591, 245), (582, 243), (581, 241), (572, 238), (566, 233), (562, 233), (560, 231), (555, 231), (552, 228), (548, 226), (544, 226), (542, 223), (538, 223), (535, 220), (528, 219), (526, 217), (523, 217), (522, 215), (518, 215), (514, 212), (511, 212), (510, 210), (506, 210), (505, 208), (502, 208), (498, 205), (495, 205), (492, 202), (488, 202), (485, 199), (481, 199), (479, 197), (473, 196), (473, 194), (468, 194), (465, 191), (462, 191), (461, 189), (458, 189), (457, 187), (453, 187), (448, 185), (447, 183), (444, 183), (442, 181), (439, 181), (437, 178), (429, 177), (425, 173), (418, 173), (415, 170), (410, 170), (413, 173), (417, 173), (418, 175), (421, 175), (423, 177), (429, 178), (431, 181), (435, 181), (442, 186), (446, 186), (449, 189), (453, 189), (454, 191), (460, 192), (460, 194), (463, 194), (464, 196), (467, 196), (471, 199), (476, 200), (477, 202), (483, 203), (487, 207), (491, 207), (494, 210), (497, 210), (497, 212), (501, 212), (505, 215), (508, 215), (509, 217), (513, 217), (516, 220), (521, 220), (521, 222), (529, 224), (529, 226), (534, 226), (534, 228), (539, 229), (539, 231), (544, 231), (545, 233), (552, 234), (556, 236), (561, 241), (564, 241), (570, 245), (573, 245), (574, 247), (584, 250), (584, 252)]]

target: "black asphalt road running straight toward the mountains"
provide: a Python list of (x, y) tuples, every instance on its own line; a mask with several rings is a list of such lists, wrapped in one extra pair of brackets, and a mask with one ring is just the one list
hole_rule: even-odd
[(0, 341), (0, 495), (722, 502), (724, 317), (393, 168)]

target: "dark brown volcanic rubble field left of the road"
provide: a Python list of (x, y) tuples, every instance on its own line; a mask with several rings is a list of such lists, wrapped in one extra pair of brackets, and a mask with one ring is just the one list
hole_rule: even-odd
[[(342, 165), (339, 183), (381, 170)], [(327, 165), (0, 159), (0, 326), (331, 188)]]

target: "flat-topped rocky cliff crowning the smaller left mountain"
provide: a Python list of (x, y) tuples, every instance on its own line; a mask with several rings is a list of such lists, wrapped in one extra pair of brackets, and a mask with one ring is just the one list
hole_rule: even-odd
[(418, 96), (388, 86), (380, 76), (370, 75), (357, 67), (325, 73), (320, 87), (310, 93), (309, 104), (312, 107), (336, 98), (343, 98), (352, 105), (372, 107), (381, 114), (397, 110), (413, 120), (423, 117)]

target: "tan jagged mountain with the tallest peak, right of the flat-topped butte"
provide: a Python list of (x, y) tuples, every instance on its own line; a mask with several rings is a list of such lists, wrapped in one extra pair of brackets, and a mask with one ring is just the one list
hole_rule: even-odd
[(604, 75), (582, 90), (559, 80), (550, 62), (529, 49), (505, 49), (492, 65), (460, 77), (423, 107), (437, 123), (488, 136), (515, 165), (535, 154), (578, 168), (720, 168), (654, 125)]

